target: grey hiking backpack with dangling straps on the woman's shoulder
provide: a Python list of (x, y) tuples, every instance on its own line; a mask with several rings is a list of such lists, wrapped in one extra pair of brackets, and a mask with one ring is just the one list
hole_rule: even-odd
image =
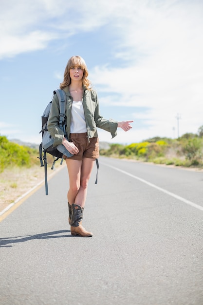
[[(59, 102), (59, 128), (63, 130), (64, 136), (67, 137), (66, 134), (66, 93), (61, 90), (55, 90), (54, 95), (57, 95), (58, 102)], [(92, 95), (92, 92), (91, 92)], [(49, 102), (47, 107), (45, 108), (42, 116), (41, 116), (41, 122), (42, 122), (42, 128), (39, 133), (42, 133), (42, 142), (39, 145), (39, 160), (40, 160), (40, 166), (44, 167), (44, 178), (45, 178), (45, 193), (48, 195), (48, 182), (47, 182), (47, 153), (50, 153), (53, 155), (54, 161), (51, 167), (51, 170), (54, 170), (55, 162), (61, 158), (60, 164), (63, 162), (63, 153), (65, 152), (67, 157), (73, 156), (73, 154), (65, 149), (65, 147), (62, 144), (59, 144), (55, 147), (53, 147), (54, 144), (54, 138), (51, 136), (51, 134), (47, 130), (47, 122), (50, 114), (52, 106), (52, 101)], [(42, 157), (43, 153), (43, 157)], [(44, 162), (43, 162), (44, 161)], [(99, 163), (98, 159), (96, 159), (96, 166), (97, 166), (97, 173), (96, 173), (96, 180), (95, 184), (97, 184), (97, 175), (98, 175), (98, 169), (99, 169)]]

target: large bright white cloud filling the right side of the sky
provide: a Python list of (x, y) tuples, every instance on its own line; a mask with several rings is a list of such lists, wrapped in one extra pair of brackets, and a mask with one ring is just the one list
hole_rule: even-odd
[[(97, 66), (91, 77), (100, 92), (111, 93), (100, 102), (149, 108), (148, 113), (139, 114), (150, 124), (146, 135), (171, 136), (177, 113), (182, 115), (180, 133), (196, 133), (203, 124), (203, 5), (163, 2), (160, 7), (134, 8), (129, 21), (122, 23), (126, 67)], [(117, 94), (116, 101), (112, 92)]]

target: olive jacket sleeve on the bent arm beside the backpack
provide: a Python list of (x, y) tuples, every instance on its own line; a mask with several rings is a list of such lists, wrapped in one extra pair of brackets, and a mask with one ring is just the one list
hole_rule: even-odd
[(62, 144), (64, 138), (64, 132), (59, 128), (59, 103), (58, 97), (55, 94), (52, 99), (52, 106), (47, 122), (47, 129), (51, 136), (54, 138), (54, 146)]

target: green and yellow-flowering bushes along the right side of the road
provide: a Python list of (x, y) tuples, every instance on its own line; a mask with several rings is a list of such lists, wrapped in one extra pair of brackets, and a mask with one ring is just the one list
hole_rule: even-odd
[(203, 126), (198, 133), (185, 133), (177, 139), (154, 137), (130, 145), (111, 144), (100, 155), (128, 158), (155, 164), (203, 168)]

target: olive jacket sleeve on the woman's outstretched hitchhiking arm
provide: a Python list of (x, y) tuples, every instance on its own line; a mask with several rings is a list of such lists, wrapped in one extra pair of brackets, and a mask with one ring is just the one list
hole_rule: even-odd
[(99, 102), (96, 92), (94, 91), (93, 94), (95, 95), (95, 111), (94, 111), (94, 121), (96, 127), (104, 129), (111, 133), (112, 138), (114, 138), (117, 133), (118, 122), (113, 119), (105, 119), (103, 116), (100, 115), (99, 111)]

